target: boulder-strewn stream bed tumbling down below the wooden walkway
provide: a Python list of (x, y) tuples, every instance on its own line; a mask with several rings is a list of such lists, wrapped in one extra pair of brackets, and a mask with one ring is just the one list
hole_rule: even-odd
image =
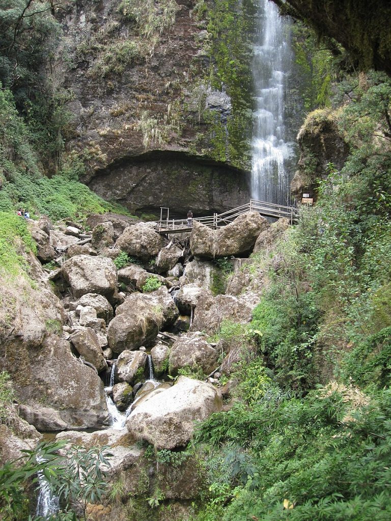
[[(180, 451), (197, 421), (230, 407), (240, 350), (213, 335), (224, 320), (251, 320), (267, 279), (252, 275), (249, 255), (288, 221), (270, 225), (256, 212), (218, 230), (194, 221), (175, 239), (115, 214), (91, 216), (84, 229), (47, 219), (29, 226), (35, 301), (18, 309), (1, 353), (26, 421), (19, 436), (2, 438), (3, 453), (32, 448), (42, 432), (110, 445), (110, 479), (121, 477), (127, 494), (157, 480), (166, 500), (185, 507), (200, 488), (192, 462), (157, 472), (140, 440)], [(99, 506), (92, 518), (118, 518), (116, 506)]]

